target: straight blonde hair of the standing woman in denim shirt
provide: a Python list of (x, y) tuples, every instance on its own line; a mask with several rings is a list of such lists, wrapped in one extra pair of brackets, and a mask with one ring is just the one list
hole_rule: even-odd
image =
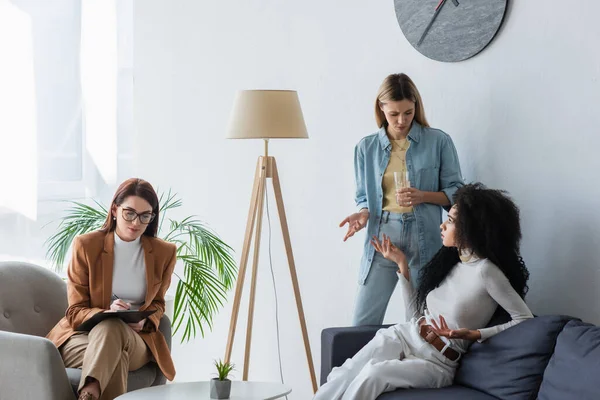
[(375, 121), (377, 121), (377, 126), (379, 128), (387, 126), (387, 120), (381, 107), (388, 101), (402, 100), (409, 100), (415, 103), (415, 121), (422, 126), (429, 127), (427, 118), (425, 118), (425, 109), (423, 108), (423, 100), (421, 100), (419, 90), (406, 74), (388, 75), (379, 87), (377, 99), (375, 100)]

